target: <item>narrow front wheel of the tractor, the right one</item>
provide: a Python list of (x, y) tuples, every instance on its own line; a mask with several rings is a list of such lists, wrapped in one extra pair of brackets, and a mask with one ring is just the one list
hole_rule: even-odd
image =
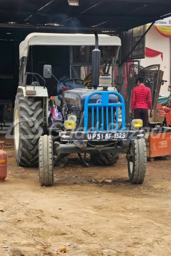
[(147, 151), (144, 139), (130, 142), (127, 160), (128, 176), (131, 183), (143, 183), (147, 169)]

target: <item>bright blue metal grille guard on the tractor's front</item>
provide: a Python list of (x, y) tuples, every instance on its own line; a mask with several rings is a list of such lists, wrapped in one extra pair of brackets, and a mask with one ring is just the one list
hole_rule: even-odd
[[(99, 103), (89, 103), (89, 99), (101, 94)], [(109, 103), (109, 95), (118, 96), (118, 103)], [(125, 130), (125, 106), (123, 97), (117, 92), (92, 92), (85, 100), (84, 109), (84, 131), (118, 131)], [(122, 127), (119, 123), (119, 110), (122, 112)]]

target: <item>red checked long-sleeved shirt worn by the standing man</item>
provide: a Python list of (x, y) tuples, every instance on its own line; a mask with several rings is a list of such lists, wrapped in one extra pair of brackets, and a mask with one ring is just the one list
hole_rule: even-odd
[(133, 89), (131, 109), (152, 109), (151, 89), (140, 84)]

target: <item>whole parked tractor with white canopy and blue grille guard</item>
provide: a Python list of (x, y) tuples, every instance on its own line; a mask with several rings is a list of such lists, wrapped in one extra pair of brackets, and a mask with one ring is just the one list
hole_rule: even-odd
[[(91, 46), (91, 86), (80, 77), (57, 79), (53, 67), (45, 64), (43, 76), (27, 72), (32, 46)], [(102, 47), (114, 47), (118, 58), (120, 39), (116, 36), (32, 33), (20, 43), (19, 86), (14, 109), (14, 147), (20, 166), (38, 166), (41, 186), (53, 185), (53, 166), (70, 154), (90, 154), (95, 165), (115, 164), (126, 153), (131, 183), (144, 181), (147, 153), (141, 119), (126, 127), (123, 97), (112, 90), (109, 73), (100, 76)], [(42, 52), (42, 55), (44, 52)], [(57, 58), (57, 56), (51, 56)], [(112, 72), (114, 69), (112, 69)], [(28, 76), (32, 81), (28, 82)], [(70, 76), (71, 77), (71, 76)], [(47, 81), (56, 81), (56, 95), (48, 93)], [(111, 88), (111, 89), (110, 89)], [(58, 104), (56, 103), (58, 102)], [(61, 118), (52, 118), (57, 105)]]

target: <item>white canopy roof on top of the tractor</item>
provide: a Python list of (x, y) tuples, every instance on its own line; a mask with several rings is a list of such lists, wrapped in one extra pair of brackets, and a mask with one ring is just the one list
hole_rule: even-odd
[[(117, 36), (98, 35), (99, 46), (121, 46), (120, 38)], [(95, 36), (93, 34), (51, 34), (32, 33), (20, 43), (20, 59), (27, 57), (30, 46), (94, 46)]]

